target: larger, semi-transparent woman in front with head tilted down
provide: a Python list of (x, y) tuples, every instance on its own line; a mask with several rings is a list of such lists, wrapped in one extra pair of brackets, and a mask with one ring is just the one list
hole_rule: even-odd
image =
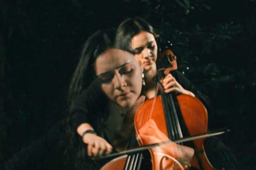
[[(90, 43), (91, 41), (93, 41), (93, 43), (98, 42), (94, 50), (89, 50), (93, 48), (92, 43)], [(76, 124), (72, 124), (74, 123), (73, 120), (70, 121), (70, 135), (68, 137), (70, 143), (67, 149), (67, 155), (72, 155), (75, 152), (76, 155), (73, 157), (75, 160), (73, 161), (75, 162), (75, 167), (78, 169), (84, 169), (85, 167), (89, 169), (93, 168), (88, 167), (90, 165), (99, 168), (103, 165), (99, 163), (92, 164), (92, 161), (90, 162), (87, 156), (97, 157), (108, 154), (113, 150), (112, 146), (114, 146), (114, 150), (117, 152), (123, 151), (128, 147), (134, 134), (134, 113), (145, 99), (145, 96), (141, 94), (143, 61), (135, 62), (136, 59), (140, 61), (140, 55), (134, 56), (133, 53), (127, 52), (128, 50), (123, 51), (115, 49), (111, 46), (111, 43), (108, 42), (110, 41), (108, 41), (107, 34), (100, 32), (95, 33), (86, 42), (87, 44), (84, 46), (84, 52), (86, 53), (82, 53), (72, 81), (79, 82), (80, 88), (82, 88), (86, 81), (84, 77), (88, 77), (90, 74), (94, 77), (95, 80), (92, 85), (80, 95), (84, 97), (87, 102), (96, 102), (93, 101), (94, 98), (92, 96), (88, 96), (88, 94), (92, 94), (93, 90), (95, 93), (99, 92), (104, 94), (102, 96), (104, 104), (100, 103), (98, 108), (93, 109), (91, 106), (91, 115), (84, 113), (87, 110), (82, 110), (83, 113), (80, 112), (78, 114), (84, 116), (80, 117), (81, 119), (79, 120), (83, 121), (82, 126), (85, 131), (82, 136), (87, 147), (83, 145), (81, 138), (72, 131), (72, 129), (74, 130), (74, 127), (76, 127)], [(139, 63), (142, 66), (141, 68), (138, 67)], [(87, 76), (84, 76), (85, 74), (87, 74)], [(77, 79), (80, 78), (81, 81), (77, 81)], [(72, 88), (79, 86), (71, 85), (70, 87), (70, 92), (72, 92), (70, 94), (73, 94), (76, 90), (78, 91), (77, 93), (79, 93), (79, 88)], [(89, 89), (91, 91), (88, 92)], [(106, 96), (107, 99), (104, 96)], [(98, 100), (101, 100), (102, 97)], [(95, 105), (95, 103), (93, 104)], [(78, 106), (78, 108), (80, 107), (79, 103), (76, 103), (76, 101), (73, 102), (73, 105)], [(83, 103), (81, 103), (81, 108), (84, 108)], [(150, 143), (167, 140), (168, 138), (154, 125), (154, 121), (150, 120), (148, 124), (146, 124), (147, 128), (144, 128), (145, 130), (140, 132), (140, 136), (142, 138), (152, 137), (153, 139)], [(147, 133), (147, 129), (150, 127), (154, 127), (154, 134)], [(79, 132), (79, 130), (77, 131)], [(109, 143), (111, 143), (111, 145)], [(175, 157), (176, 159), (191, 159), (194, 154), (192, 148), (178, 146), (174, 143), (165, 147), (155, 148), (156, 152), (160, 150), (163, 150), (170, 158)], [(86, 160), (88, 160), (87, 163), (85, 163)], [(173, 161), (170, 159), (169, 163), (172, 162)]]

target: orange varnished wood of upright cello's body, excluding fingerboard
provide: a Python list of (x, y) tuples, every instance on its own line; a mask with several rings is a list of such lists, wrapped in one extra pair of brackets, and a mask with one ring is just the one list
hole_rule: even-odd
[[(201, 133), (206, 133), (208, 126), (208, 115), (204, 105), (197, 98), (184, 94), (178, 95), (177, 100), (179, 102), (180, 111), (184, 118), (185, 124), (188, 128), (189, 134), (197, 135)], [(152, 107), (152, 105), (154, 107)], [(150, 114), (151, 116), (149, 117), (147, 116), (147, 114)], [(161, 96), (157, 96), (155, 101), (154, 99), (149, 99), (146, 102), (144, 102), (135, 114), (134, 126), (137, 134), (137, 139), (140, 145), (143, 145), (145, 141), (143, 141), (143, 139), (141, 139), (138, 134), (142, 126), (146, 124), (149, 118), (153, 119), (156, 122), (156, 125), (159, 128), (159, 130), (162, 131), (166, 136), (168, 136)], [(193, 143), (195, 145), (196, 150), (204, 151), (204, 138), (194, 140)], [(157, 162), (154, 161), (154, 159), (157, 160), (159, 158), (157, 158), (157, 156), (150, 149), (149, 152), (152, 159), (153, 170), (159, 169), (159, 165), (153, 164), (154, 162)], [(215, 169), (209, 162), (208, 158), (206, 157), (205, 152), (200, 153), (198, 156), (204, 170)], [(196, 156), (192, 158), (190, 164), (191, 166), (200, 169), (199, 162)]]

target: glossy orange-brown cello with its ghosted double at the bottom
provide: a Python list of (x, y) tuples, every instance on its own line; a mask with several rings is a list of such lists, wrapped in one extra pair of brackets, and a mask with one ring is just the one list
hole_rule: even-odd
[[(158, 69), (160, 68), (157, 73), (158, 80), (161, 80), (172, 69), (177, 69), (177, 63), (176, 67), (170, 67), (170, 65), (175, 66), (173, 61), (176, 62), (176, 57), (173, 57), (174, 54), (172, 54), (169, 51), (165, 55), (163, 53), (162, 56), (165, 57), (159, 57), (157, 59)], [(168, 63), (168, 65), (166, 65), (166, 63)], [(159, 82), (159, 84), (161, 83)], [(179, 105), (179, 114), (177, 113), (177, 106), (175, 107), (177, 104), (175, 103)], [(183, 129), (187, 129), (187, 135), (207, 132), (207, 110), (198, 99), (188, 95), (175, 96), (173, 94), (162, 93), (153, 99), (147, 100), (140, 106), (134, 117), (136, 136), (140, 146), (147, 144), (147, 141), (140, 137), (139, 131), (150, 119), (154, 120), (158, 129), (171, 140), (183, 138)], [(132, 140), (134, 140), (134, 138)], [(204, 138), (193, 141), (196, 154), (192, 161), (185, 163), (185, 165), (181, 165), (183, 163), (180, 164), (179, 161), (175, 158), (173, 159), (171, 156), (159, 153), (156, 154), (152, 149), (149, 149), (152, 169), (164, 169), (164, 166), (161, 164), (163, 159), (172, 159), (173, 162), (175, 162), (175, 166), (171, 165), (171, 169), (214, 169), (204, 152), (203, 141)], [(142, 153), (140, 152), (128, 156), (124, 155), (111, 160), (101, 169), (140, 169), (142, 157)]]

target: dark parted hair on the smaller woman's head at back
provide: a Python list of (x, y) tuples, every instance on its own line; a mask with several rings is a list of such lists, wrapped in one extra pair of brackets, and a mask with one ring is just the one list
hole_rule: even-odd
[(146, 31), (154, 35), (157, 44), (157, 56), (161, 53), (159, 43), (157, 42), (157, 35), (153, 27), (142, 18), (128, 18), (125, 19), (116, 30), (115, 46), (122, 50), (133, 51), (131, 48), (132, 38), (141, 31)]

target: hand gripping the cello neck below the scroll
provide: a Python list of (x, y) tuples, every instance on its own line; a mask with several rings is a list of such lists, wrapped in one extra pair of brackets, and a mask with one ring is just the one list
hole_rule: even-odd
[(184, 89), (178, 81), (172, 76), (172, 74), (167, 74), (164, 79), (162, 80), (162, 84), (164, 86), (164, 92), (170, 93), (170, 92), (176, 92), (180, 94), (186, 94), (195, 97), (194, 93), (191, 91), (188, 91)]

